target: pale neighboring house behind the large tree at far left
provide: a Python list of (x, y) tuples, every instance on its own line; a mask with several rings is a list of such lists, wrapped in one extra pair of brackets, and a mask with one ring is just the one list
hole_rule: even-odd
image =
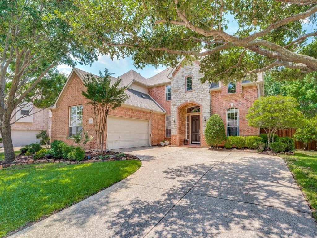
[[(15, 115), (14, 115), (15, 114)], [(42, 110), (28, 103), (25, 107), (13, 111), (11, 123), (11, 137), (13, 146), (28, 145), (39, 142), (36, 134), (40, 130), (48, 130), (49, 110)], [(1, 146), (3, 144), (1, 143)]]

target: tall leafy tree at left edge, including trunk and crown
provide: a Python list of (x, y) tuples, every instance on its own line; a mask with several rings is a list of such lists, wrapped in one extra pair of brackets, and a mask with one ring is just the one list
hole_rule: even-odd
[(94, 47), (82, 44), (66, 21), (49, 18), (55, 12), (74, 8), (72, 0), (0, 3), (0, 132), (5, 161), (15, 158), (10, 133), (12, 112), (31, 98), (45, 106), (45, 100), (35, 95), (49, 94), (51, 86), (54, 89), (45, 76), (58, 64), (74, 66), (75, 61), (90, 63), (97, 59)]

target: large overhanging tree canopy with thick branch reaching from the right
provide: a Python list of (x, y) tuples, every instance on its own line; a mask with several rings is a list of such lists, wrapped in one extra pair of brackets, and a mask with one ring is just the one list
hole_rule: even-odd
[(317, 0), (77, 0), (75, 6), (53, 17), (65, 19), (83, 44), (111, 58), (131, 56), (140, 68), (199, 59), (202, 82), (225, 84), (255, 80), (268, 69), (283, 78), (317, 70), (317, 31), (303, 29), (316, 22)]

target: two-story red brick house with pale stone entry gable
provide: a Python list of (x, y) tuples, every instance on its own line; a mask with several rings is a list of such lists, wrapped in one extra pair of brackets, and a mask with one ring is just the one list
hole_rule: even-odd
[[(81, 94), (86, 74), (73, 68), (54, 106), (49, 108), (52, 140), (72, 144), (67, 137), (81, 129), (89, 136), (95, 135), (91, 106)], [(121, 86), (128, 87), (130, 98), (108, 117), (107, 149), (155, 145), (164, 139), (174, 146), (183, 145), (187, 139), (189, 144), (206, 147), (204, 129), (214, 113), (223, 118), (227, 135), (259, 135), (258, 128), (247, 125), (245, 115), (256, 98), (263, 96), (262, 74), (256, 82), (202, 84), (199, 62), (185, 66), (180, 62), (175, 69), (165, 69), (148, 79), (133, 70), (119, 77)], [(85, 148), (95, 149), (96, 141)]]

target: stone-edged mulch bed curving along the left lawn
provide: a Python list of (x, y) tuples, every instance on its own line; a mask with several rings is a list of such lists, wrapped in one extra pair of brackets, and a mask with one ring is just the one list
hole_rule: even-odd
[[(85, 158), (83, 161), (70, 161), (66, 159), (47, 159), (46, 157), (34, 159), (32, 155), (18, 154), (13, 162), (7, 163), (4, 160), (0, 161), (0, 169), (6, 167), (13, 167), (22, 164), (36, 164), (36, 163), (66, 163), (66, 164), (78, 164), (78, 163), (93, 163), (93, 162), (107, 162), (107, 161), (118, 161), (118, 160), (138, 160), (139, 158), (134, 155), (118, 153), (113, 151), (106, 151), (102, 155), (99, 155), (97, 151), (86, 150)], [(120, 156), (117, 156), (121, 154)], [(107, 155), (107, 156), (106, 156)], [(102, 156), (99, 157), (99, 156)], [(106, 157), (105, 157), (106, 156)]]

